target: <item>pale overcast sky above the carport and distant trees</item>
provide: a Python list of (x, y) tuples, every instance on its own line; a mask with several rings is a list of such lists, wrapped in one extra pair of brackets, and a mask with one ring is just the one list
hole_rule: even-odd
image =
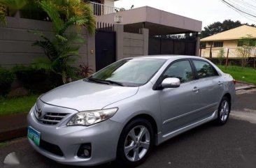
[[(253, 1), (253, 0), (243, 0)], [(255, 20), (243, 17), (235, 10), (232, 10), (220, 0), (119, 0), (115, 1), (115, 7), (129, 9), (141, 6), (150, 6), (164, 10), (169, 13), (175, 13), (194, 20), (200, 20), (204, 26), (213, 22), (222, 22), (224, 20), (239, 20), (241, 23), (256, 24)]]

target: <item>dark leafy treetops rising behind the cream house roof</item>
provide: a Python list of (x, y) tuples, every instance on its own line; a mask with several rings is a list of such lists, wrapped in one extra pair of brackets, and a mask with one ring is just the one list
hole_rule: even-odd
[[(232, 20), (224, 20), (223, 22), (214, 22), (213, 24), (210, 24), (208, 26), (204, 27), (204, 31), (201, 31), (201, 38), (205, 38), (208, 36), (212, 36), (216, 33), (221, 33), (222, 31), (227, 31), (230, 29), (234, 29), (238, 26), (242, 25), (249, 25), (249, 24), (242, 24), (240, 21), (232, 21)], [(249, 26), (255, 26), (255, 24), (251, 24)]]

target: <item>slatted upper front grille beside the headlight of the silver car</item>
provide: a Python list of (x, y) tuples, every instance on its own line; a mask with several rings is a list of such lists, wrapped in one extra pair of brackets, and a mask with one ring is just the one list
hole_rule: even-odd
[(38, 121), (40, 121), (41, 123), (47, 124), (47, 125), (56, 125), (57, 123), (59, 123), (59, 121), (62, 121), (62, 119), (64, 119), (64, 117), (67, 114), (68, 113), (48, 112), (43, 116), (42, 119), (38, 119)]

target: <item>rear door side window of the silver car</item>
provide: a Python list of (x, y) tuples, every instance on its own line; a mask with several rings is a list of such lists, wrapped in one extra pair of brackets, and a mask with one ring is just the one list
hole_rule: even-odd
[(194, 66), (197, 70), (197, 75), (199, 79), (204, 78), (204, 77), (213, 77), (218, 75), (215, 69), (207, 63), (206, 61), (198, 61), (194, 60)]

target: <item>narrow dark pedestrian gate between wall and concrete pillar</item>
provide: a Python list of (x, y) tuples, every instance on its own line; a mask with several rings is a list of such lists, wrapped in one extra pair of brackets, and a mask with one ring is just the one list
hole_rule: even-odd
[(116, 61), (115, 31), (113, 26), (99, 28), (95, 34), (96, 70), (101, 70)]

